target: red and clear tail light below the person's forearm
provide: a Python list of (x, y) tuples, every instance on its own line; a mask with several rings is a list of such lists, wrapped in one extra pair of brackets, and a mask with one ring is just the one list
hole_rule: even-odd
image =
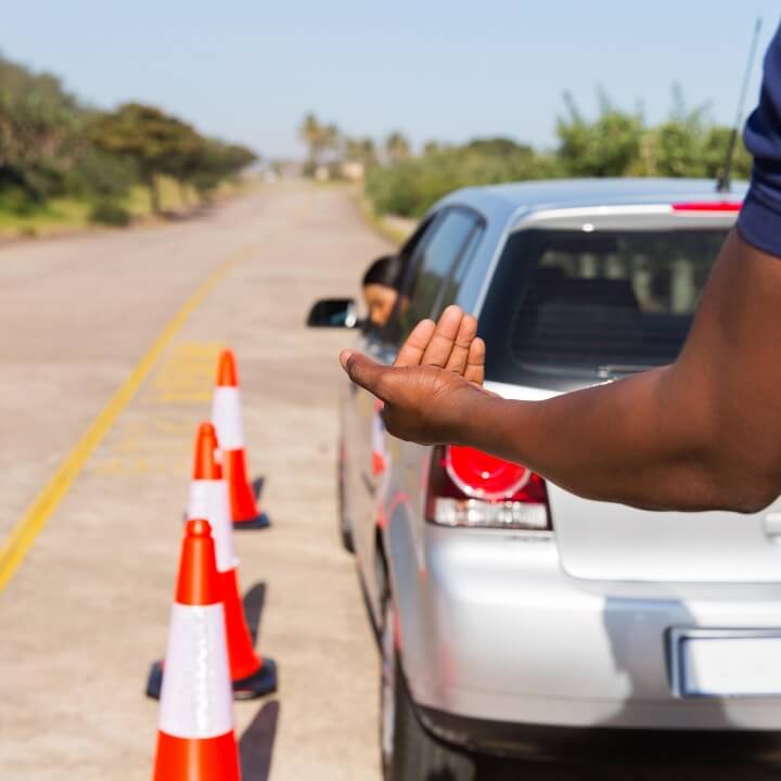
[(552, 528), (542, 477), (521, 464), (453, 445), (434, 448), (426, 520), (441, 526)]

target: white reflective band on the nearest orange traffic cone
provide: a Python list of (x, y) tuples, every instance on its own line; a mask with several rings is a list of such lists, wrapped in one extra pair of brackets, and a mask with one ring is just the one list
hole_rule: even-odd
[(221, 604), (171, 609), (157, 726), (174, 738), (218, 738), (233, 729), (233, 693)]

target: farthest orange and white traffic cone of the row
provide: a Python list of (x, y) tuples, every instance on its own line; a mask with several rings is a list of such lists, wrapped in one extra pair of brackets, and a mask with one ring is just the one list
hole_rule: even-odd
[(238, 529), (266, 528), (270, 523), (269, 517), (257, 507), (255, 494), (247, 479), (239, 373), (235, 356), (229, 349), (220, 353), (217, 385), (212, 404), (212, 422), (217, 428), (222, 450), (222, 465), (230, 488), (233, 526)]

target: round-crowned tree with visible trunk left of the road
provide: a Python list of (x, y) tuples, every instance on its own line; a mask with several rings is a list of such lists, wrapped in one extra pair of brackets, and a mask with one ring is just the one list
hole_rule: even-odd
[(183, 165), (199, 143), (197, 135), (189, 125), (140, 103), (126, 103), (113, 113), (101, 115), (90, 129), (90, 138), (104, 152), (135, 163), (149, 188), (155, 214), (162, 213), (157, 177)]

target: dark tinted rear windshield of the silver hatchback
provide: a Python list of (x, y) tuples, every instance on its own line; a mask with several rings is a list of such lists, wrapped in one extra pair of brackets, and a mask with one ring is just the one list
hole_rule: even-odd
[(674, 361), (726, 235), (513, 234), (481, 315), (486, 377), (559, 387)]

